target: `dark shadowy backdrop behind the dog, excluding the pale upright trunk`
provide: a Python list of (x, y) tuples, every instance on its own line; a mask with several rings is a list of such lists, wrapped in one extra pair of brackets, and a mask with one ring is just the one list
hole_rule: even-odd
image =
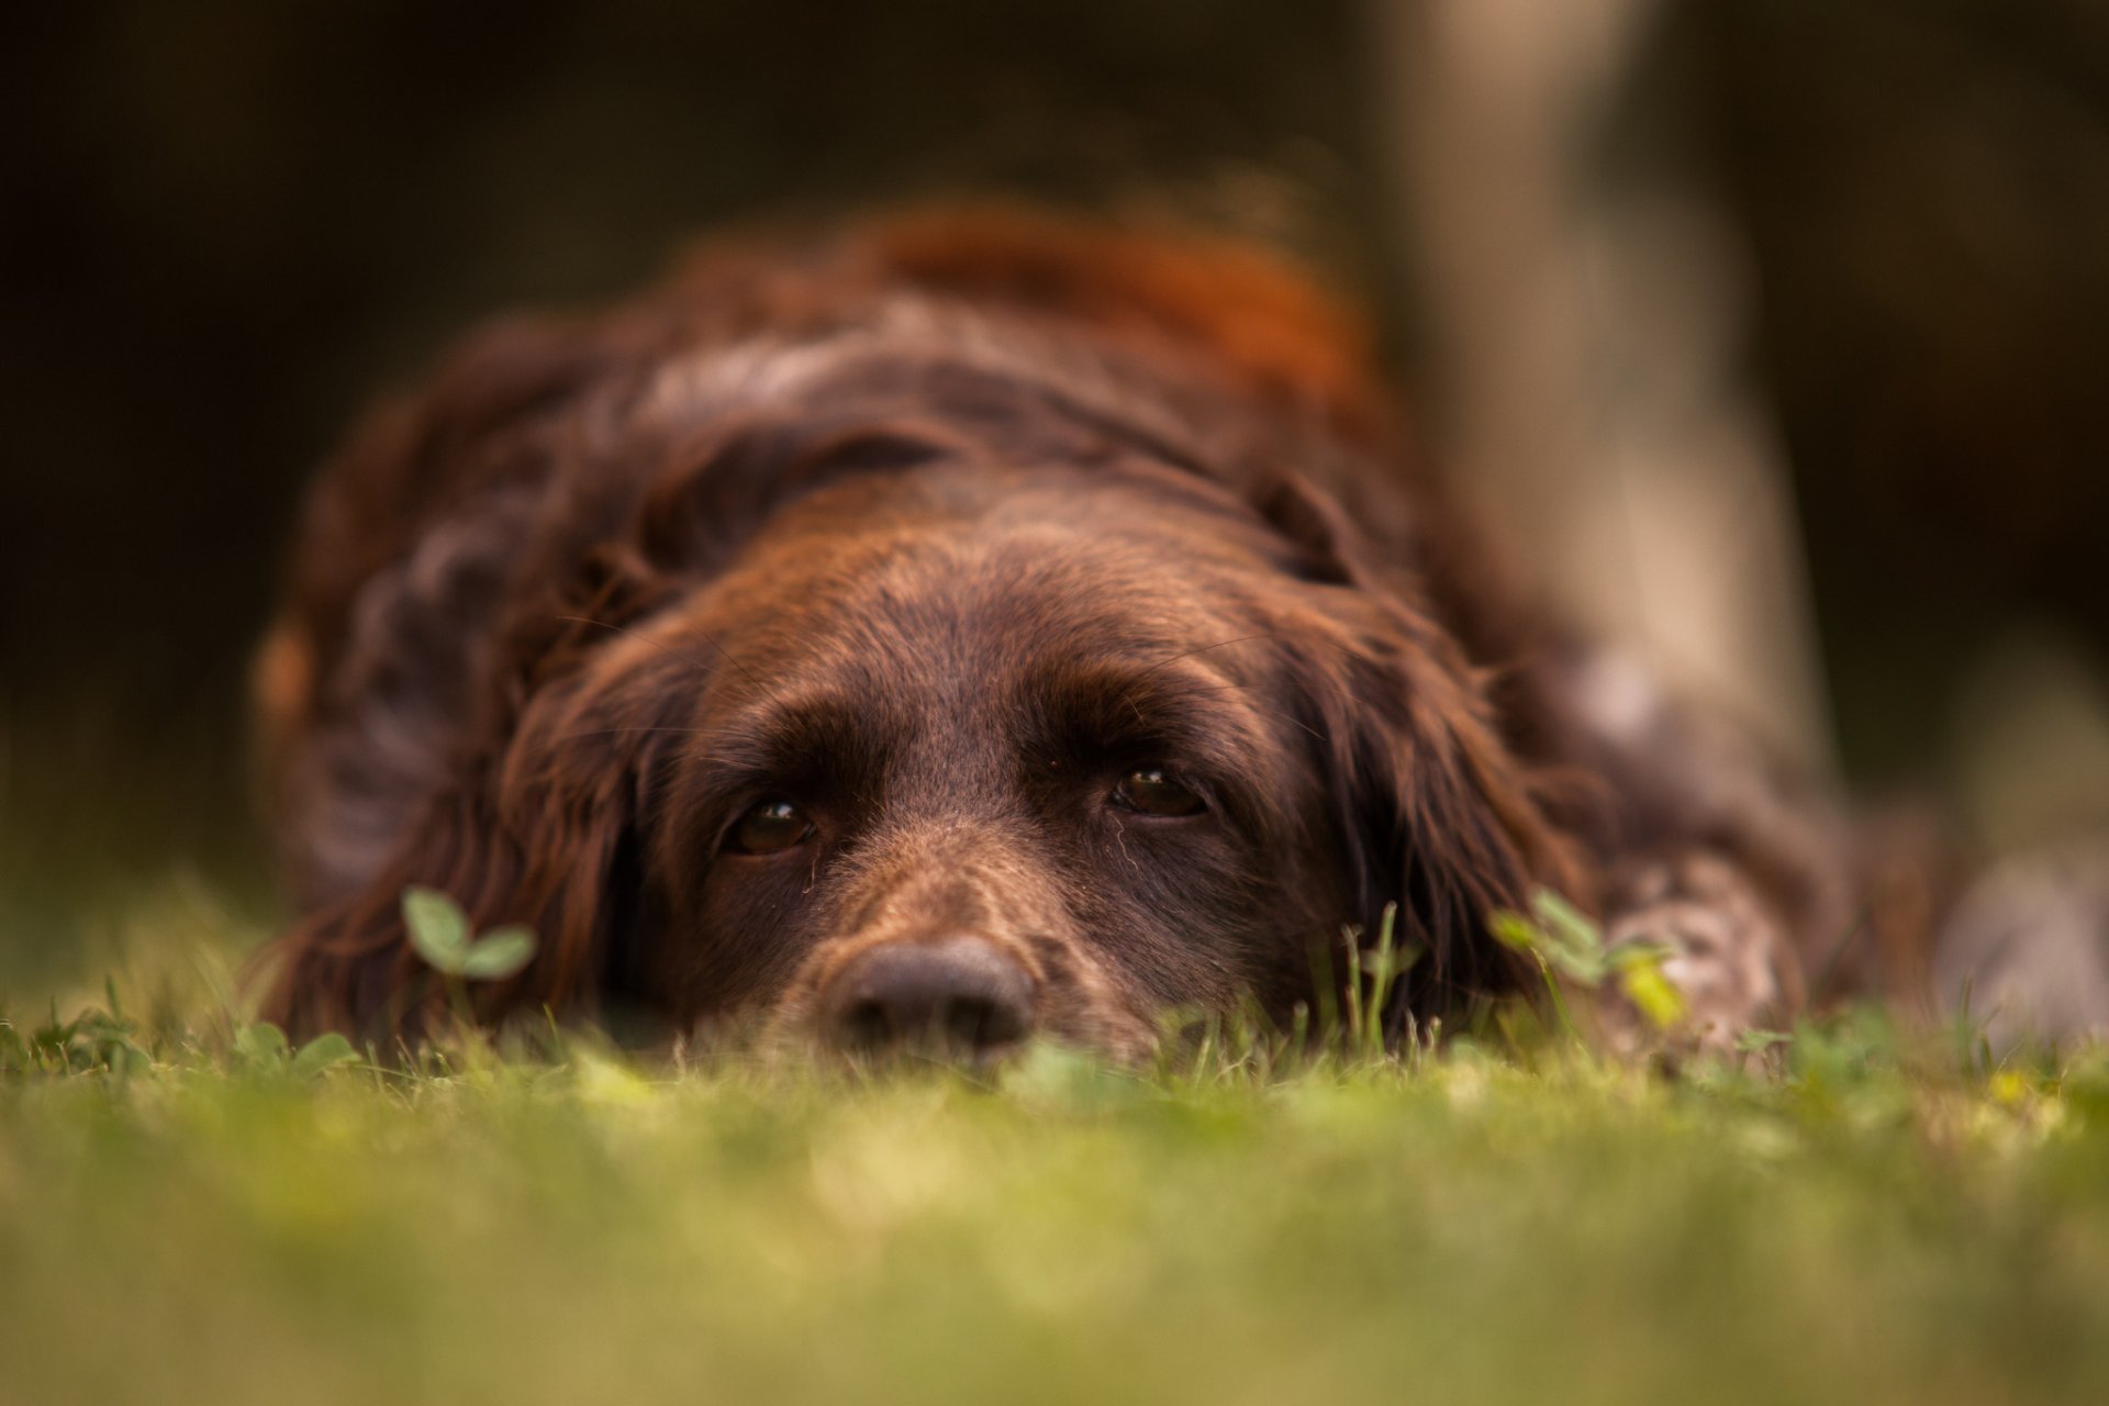
[[(730, 217), (1006, 190), (1282, 240), (1415, 386), (1388, 2), (8, 6), (0, 982), (141, 885), (268, 911), (240, 672), (283, 529), (481, 316)], [(1670, 0), (1641, 53), (1575, 139), (1675, 139), (1746, 259), (1847, 774), (1982, 812), (2048, 767), (2109, 822), (2109, 4)]]

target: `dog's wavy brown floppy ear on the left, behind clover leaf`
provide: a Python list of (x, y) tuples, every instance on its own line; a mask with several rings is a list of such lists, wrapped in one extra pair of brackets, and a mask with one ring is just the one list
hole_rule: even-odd
[[(276, 944), (264, 1016), (291, 1035), (346, 1031), (418, 1037), (443, 1010), (443, 987), (409, 944), (403, 892), (432, 887), (462, 906), (470, 932), (525, 923), (538, 938), (517, 976), (472, 991), (477, 1016), (593, 1005), (610, 946), (635, 894), (612, 881), (631, 864), (654, 767), (683, 731), (700, 658), (647, 658), (631, 637), (603, 666), (546, 683), (517, 725), (466, 759), (424, 807), (388, 864), (361, 892), (325, 906)], [(637, 875), (624, 875), (637, 883)]]

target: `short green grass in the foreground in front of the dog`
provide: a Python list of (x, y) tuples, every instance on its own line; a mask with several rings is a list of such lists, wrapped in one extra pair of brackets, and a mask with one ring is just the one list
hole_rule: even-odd
[(36, 1027), (8, 1402), (2109, 1400), (2101, 1052), (985, 1088)]

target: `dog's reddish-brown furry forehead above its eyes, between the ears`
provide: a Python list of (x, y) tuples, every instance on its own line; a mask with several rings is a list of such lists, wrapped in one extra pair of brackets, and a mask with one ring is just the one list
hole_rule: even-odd
[(713, 725), (1033, 748), (1105, 731), (1080, 719), (1107, 700), (1137, 723), (1166, 691), (1227, 712), (1270, 672), (1249, 609), (1268, 567), (1234, 533), (1152, 495), (939, 487), (791, 514), (702, 592), (696, 626), (738, 662), (711, 672)]

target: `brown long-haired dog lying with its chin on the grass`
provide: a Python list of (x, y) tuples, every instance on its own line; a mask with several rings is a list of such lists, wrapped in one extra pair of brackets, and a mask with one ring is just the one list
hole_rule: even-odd
[(1286, 1022), (1386, 923), (1388, 1029), (1455, 1027), (1542, 984), (1489, 934), (1540, 892), (1721, 1041), (1856, 904), (1820, 797), (1504, 578), (1308, 276), (1014, 211), (475, 337), (316, 481), (257, 706), (295, 1035), (432, 1027), (411, 885), (538, 934), (481, 1020), (972, 1060)]

